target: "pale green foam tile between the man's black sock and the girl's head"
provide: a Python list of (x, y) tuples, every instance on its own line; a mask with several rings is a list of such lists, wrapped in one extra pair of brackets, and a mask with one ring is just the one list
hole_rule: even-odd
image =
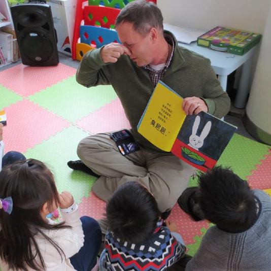
[(88, 193), (97, 178), (71, 170), (67, 161), (78, 159), (77, 145), (88, 135), (76, 126), (70, 126), (24, 153), (26, 158), (35, 158), (46, 163), (54, 174), (58, 191), (70, 191), (78, 203), (82, 197), (89, 196)]

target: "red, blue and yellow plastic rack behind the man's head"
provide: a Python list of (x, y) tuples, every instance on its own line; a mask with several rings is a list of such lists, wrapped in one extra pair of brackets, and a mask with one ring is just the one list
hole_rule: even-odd
[[(119, 43), (114, 30), (115, 21), (120, 10), (132, 1), (78, 0), (72, 44), (73, 59), (81, 60), (87, 51), (95, 47), (111, 42)], [(156, 4), (156, 0), (151, 2)]]

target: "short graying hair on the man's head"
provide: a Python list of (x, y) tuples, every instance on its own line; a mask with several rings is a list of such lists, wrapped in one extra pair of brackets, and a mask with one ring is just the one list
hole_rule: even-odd
[(123, 22), (133, 24), (133, 29), (146, 36), (152, 27), (163, 31), (163, 16), (159, 8), (152, 2), (135, 0), (125, 6), (119, 13), (115, 27)]

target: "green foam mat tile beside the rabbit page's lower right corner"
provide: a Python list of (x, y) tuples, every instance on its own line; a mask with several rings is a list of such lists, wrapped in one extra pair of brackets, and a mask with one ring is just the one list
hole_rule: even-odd
[(234, 134), (224, 150), (217, 165), (230, 166), (241, 179), (247, 179), (252, 170), (256, 170), (264, 155), (268, 154), (269, 146)]

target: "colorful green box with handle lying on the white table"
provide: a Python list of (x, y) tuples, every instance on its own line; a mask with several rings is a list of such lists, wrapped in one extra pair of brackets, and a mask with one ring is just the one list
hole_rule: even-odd
[(261, 35), (217, 26), (197, 38), (197, 45), (235, 55), (243, 55), (258, 44)]

